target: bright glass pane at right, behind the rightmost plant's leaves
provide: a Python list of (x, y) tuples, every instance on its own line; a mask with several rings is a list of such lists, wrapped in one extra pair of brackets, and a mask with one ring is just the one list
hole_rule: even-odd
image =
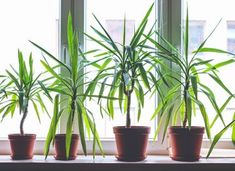
[[(203, 4), (203, 5), (202, 5)], [(230, 52), (235, 52), (235, 15), (234, 15), (234, 0), (190, 0), (188, 1), (189, 6), (189, 19), (190, 19), (190, 41), (193, 45), (190, 45), (190, 50), (196, 50), (199, 44), (204, 40), (214, 29), (216, 24), (222, 18), (221, 23), (206, 43), (206, 47), (214, 47)], [(186, 4), (185, 4), (186, 7)], [(186, 11), (186, 10), (184, 10)], [(195, 26), (196, 22), (196, 26)], [(192, 49), (191, 49), (192, 47)], [(203, 54), (204, 59), (214, 59), (213, 63), (218, 63), (226, 59), (226, 55), (215, 55), (215, 54)], [(234, 66), (228, 65), (224, 67), (218, 73), (225, 85), (232, 91), (235, 92), (235, 78), (231, 77), (234, 72)], [(217, 97), (217, 103), (219, 107), (226, 101), (228, 94), (221, 89), (216, 83), (208, 78), (207, 76), (201, 77), (201, 81), (205, 82), (210, 88), (213, 87), (213, 92)], [(206, 97), (200, 96), (205, 102), (207, 113), (209, 114), (210, 122), (216, 115), (209, 101)], [(234, 101), (223, 111), (223, 116), (226, 123), (232, 121), (234, 113)], [(198, 110), (196, 119), (193, 119), (194, 125), (203, 125), (203, 119)], [(218, 133), (223, 127), (222, 122), (218, 119), (212, 129), (213, 135)], [(223, 138), (230, 138), (231, 130), (227, 131)]]

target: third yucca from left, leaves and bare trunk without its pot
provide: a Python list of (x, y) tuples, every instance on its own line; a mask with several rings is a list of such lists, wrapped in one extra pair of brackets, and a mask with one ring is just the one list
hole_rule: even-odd
[[(98, 72), (85, 93), (86, 95), (92, 95), (97, 90), (99, 96), (102, 97), (108, 90), (109, 97), (115, 97), (117, 95), (119, 97), (119, 108), (126, 113), (126, 127), (131, 127), (130, 107), (132, 96), (135, 95), (138, 102), (139, 120), (141, 109), (144, 107), (145, 90), (151, 91), (154, 85), (157, 87), (159, 84), (151, 69), (154, 68), (160, 73), (161, 71), (158, 67), (160, 61), (156, 57), (152, 57), (144, 48), (147, 42), (144, 34), (151, 37), (155, 26), (154, 24), (146, 33), (148, 18), (153, 6), (154, 4), (148, 9), (129, 44), (126, 44), (125, 18), (121, 43), (115, 42), (112, 39), (95, 15), (94, 18), (99, 28), (94, 28), (93, 26), (91, 28), (96, 36), (86, 34), (103, 51), (94, 55), (94, 58), (98, 59), (94, 64)], [(114, 103), (112, 99), (107, 100), (107, 111), (102, 106), (101, 98), (99, 98), (98, 103), (101, 106), (101, 111), (104, 110), (111, 118), (114, 117)]]

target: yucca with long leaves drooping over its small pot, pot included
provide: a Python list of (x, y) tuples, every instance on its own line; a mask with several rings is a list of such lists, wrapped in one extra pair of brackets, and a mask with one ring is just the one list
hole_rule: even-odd
[[(87, 154), (85, 127), (88, 135), (90, 133), (93, 135), (93, 154), (95, 154), (96, 145), (103, 153), (93, 115), (83, 103), (83, 98), (88, 95), (83, 93), (84, 85), (87, 83), (84, 83), (85, 73), (81, 73), (88, 61), (85, 59), (86, 54), (79, 47), (78, 34), (73, 31), (71, 14), (68, 15), (67, 40), (69, 64), (54, 57), (36, 43), (31, 42), (50, 59), (54, 60), (57, 67), (60, 67), (63, 72), (63, 74), (56, 73), (46, 59), (41, 61), (46, 71), (56, 79), (52, 86), (48, 88), (48, 91), (59, 93), (54, 99), (54, 113), (45, 143), (45, 156), (47, 157), (49, 153), (50, 145), (54, 144), (55, 159), (57, 160), (74, 160), (76, 158), (78, 138), (80, 138), (84, 154)], [(64, 54), (67, 55), (66, 52)], [(56, 134), (56, 128), (62, 115), (66, 116), (67, 119), (66, 133)], [(78, 123), (79, 136), (73, 132), (75, 123)]]

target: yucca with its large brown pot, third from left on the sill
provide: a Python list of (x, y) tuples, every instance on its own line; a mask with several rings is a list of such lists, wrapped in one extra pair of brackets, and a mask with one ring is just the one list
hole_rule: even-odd
[[(108, 97), (118, 96), (120, 111), (126, 113), (126, 125), (113, 127), (115, 134), (117, 155), (116, 158), (122, 161), (140, 161), (146, 158), (146, 148), (148, 144), (148, 135), (150, 127), (131, 125), (131, 101), (135, 96), (138, 103), (138, 120), (141, 116), (141, 109), (144, 107), (145, 94), (150, 92), (154, 85), (157, 85), (157, 79), (151, 71), (151, 68), (160, 72), (157, 64), (159, 60), (152, 57), (144, 49), (147, 39), (144, 34), (151, 36), (153, 27), (146, 33), (148, 17), (153, 9), (153, 4), (147, 11), (142, 22), (135, 31), (129, 44), (126, 43), (126, 19), (123, 22), (123, 41), (115, 42), (101, 22), (94, 15), (95, 20), (100, 26), (92, 30), (97, 37), (89, 34), (85, 35), (91, 41), (100, 46), (98, 54), (94, 55), (97, 59), (94, 66), (97, 68), (97, 74), (88, 85), (86, 95), (92, 95), (98, 92), (99, 96), (108, 94)], [(99, 40), (101, 39), (101, 40)], [(94, 75), (93, 75), (94, 76)], [(146, 90), (146, 92), (145, 92)], [(114, 117), (114, 102), (107, 99), (107, 114)], [(104, 109), (102, 99), (98, 99), (101, 111)], [(103, 109), (103, 110), (102, 110)]]

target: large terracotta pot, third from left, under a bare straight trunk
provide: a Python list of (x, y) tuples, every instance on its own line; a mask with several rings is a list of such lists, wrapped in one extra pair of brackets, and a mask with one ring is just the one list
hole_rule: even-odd
[(117, 155), (120, 161), (141, 161), (146, 158), (148, 135), (150, 127), (125, 126), (113, 127), (115, 134)]

